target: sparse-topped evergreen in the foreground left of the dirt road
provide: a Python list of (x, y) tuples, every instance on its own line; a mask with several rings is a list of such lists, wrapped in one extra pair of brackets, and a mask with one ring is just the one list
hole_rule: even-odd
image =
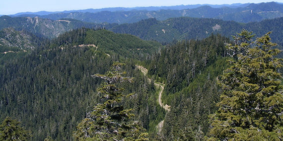
[(124, 81), (132, 82), (133, 78), (123, 77), (120, 72), (125, 64), (115, 62), (106, 74), (95, 74), (92, 77), (105, 79), (98, 92), (103, 94), (103, 104), (97, 104), (92, 112), (87, 113), (86, 118), (79, 123), (74, 138), (77, 141), (145, 141), (147, 140), (144, 129), (140, 123), (132, 122), (133, 109), (124, 109), (120, 104), (123, 97), (133, 94), (124, 94), (124, 88), (118, 87), (117, 83)]

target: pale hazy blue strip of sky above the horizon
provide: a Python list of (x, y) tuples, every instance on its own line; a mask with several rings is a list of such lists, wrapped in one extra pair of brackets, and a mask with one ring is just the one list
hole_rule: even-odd
[[(172, 6), (188, 4), (260, 3), (273, 0), (0, 0), (0, 15), (18, 12), (64, 11), (106, 7)], [(277, 0), (283, 2), (283, 0)]]

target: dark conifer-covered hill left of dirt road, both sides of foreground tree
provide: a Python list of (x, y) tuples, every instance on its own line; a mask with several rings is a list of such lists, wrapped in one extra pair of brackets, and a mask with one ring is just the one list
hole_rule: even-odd
[[(25, 129), (33, 132), (31, 141), (43, 141), (48, 136), (55, 141), (72, 140), (77, 124), (100, 100), (96, 88), (101, 80), (90, 75), (104, 73), (114, 61), (119, 61), (119, 56), (124, 56), (108, 56), (93, 46), (75, 46), (87, 42), (84, 40), (91, 36), (88, 32), (110, 34), (106, 30), (77, 29), (52, 41), (42, 41), (42, 46), (27, 55), (0, 64), (1, 121), (6, 116), (19, 119)], [(122, 35), (117, 36), (115, 40)], [(134, 39), (133, 44), (148, 44)], [(140, 120), (143, 127), (154, 130), (165, 114), (156, 104), (155, 88), (136, 69), (136, 61), (124, 62), (127, 75), (135, 77), (134, 83), (125, 86), (126, 92), (135, 95), (123, 103), (135, 109), (135, 120)]]

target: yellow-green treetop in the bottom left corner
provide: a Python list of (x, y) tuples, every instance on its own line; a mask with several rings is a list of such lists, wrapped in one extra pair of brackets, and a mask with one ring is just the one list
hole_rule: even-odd
[(0, 140), (1, 141), (28, 141), (31, 137), (31, 132), (24, 130), (19, 126), (20, 122), (12, 120), (10, 117), (0, 125)]

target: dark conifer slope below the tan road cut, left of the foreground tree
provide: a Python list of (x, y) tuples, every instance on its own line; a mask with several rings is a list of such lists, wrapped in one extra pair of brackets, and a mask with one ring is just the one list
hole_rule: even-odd
[(70, 140), (76, 122), (84, 116), (82, 109), (92, 106), (97, 99), (89, 98), (95, 90), (95, 85), (89, 84), (96, 82), (87, 74), (106, 64), (99, 66), (100, 60), (94, 58), (87, 60), (92, 62), (89, 65), (83, 65), (86, 58), (80, 55), (92, 58), (86, 48), (39, 54), (32, 52), (1, 66), (1, 118), (20, 119), (33, 131), (32, 140), (43, 140), (47, 135)]

